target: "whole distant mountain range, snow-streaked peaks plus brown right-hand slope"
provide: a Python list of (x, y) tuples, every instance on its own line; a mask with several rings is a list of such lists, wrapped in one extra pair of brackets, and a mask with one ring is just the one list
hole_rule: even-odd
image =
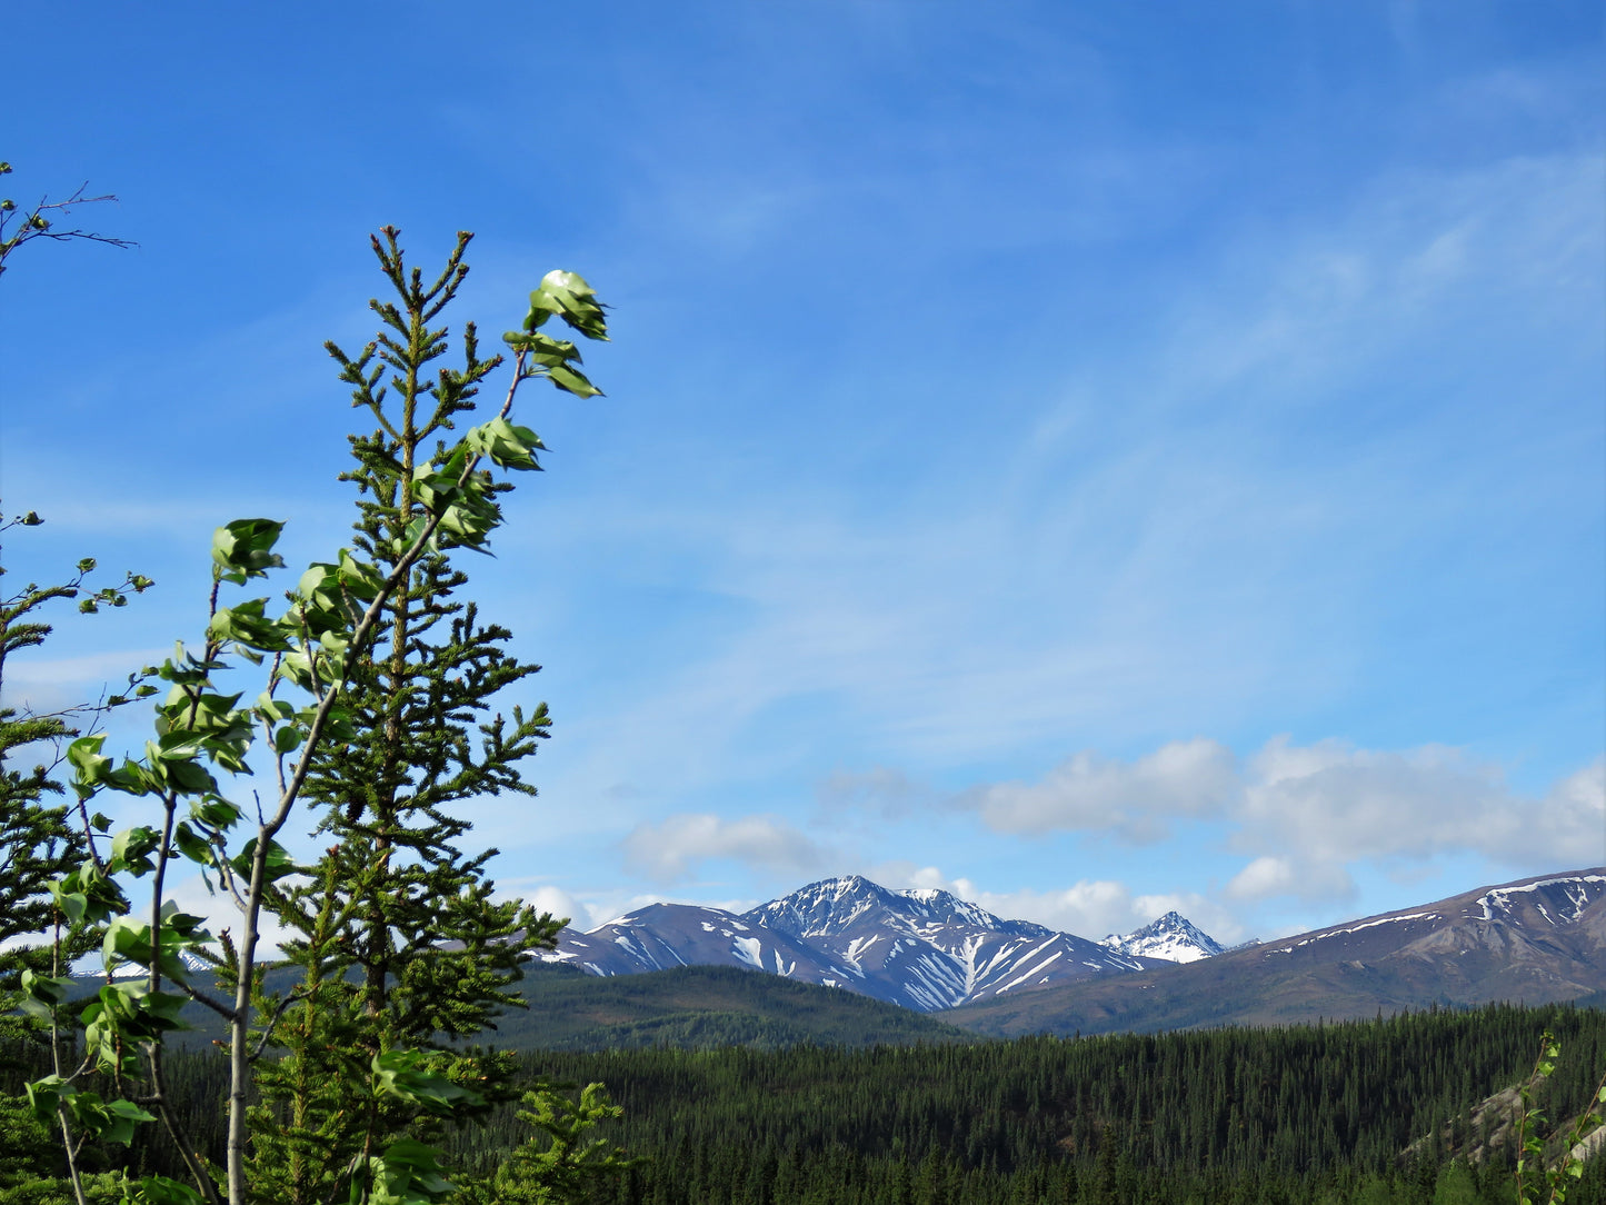
[(1177, 913), (1089, 942), (1004, 921), (948, 892), (893, 892), (850, 876), (740, 914), (650, 905), (589, 933), (565, 929), (538, 958), (604, 977), (745, 967), (944, 1011), (944, 1020), (997, 1035), (1535, 1004), (1606, 991), (1606, 868), (1227, 951)]

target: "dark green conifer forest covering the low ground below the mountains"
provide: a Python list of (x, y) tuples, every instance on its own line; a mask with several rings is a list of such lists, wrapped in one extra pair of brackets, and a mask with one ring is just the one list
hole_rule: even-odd
[[(1563, 1057), (1539, 1101), (1559, 1121), (1606, 1070), (1600, 1009), (519, 1064), (530, 1080), (602, 1080), (623, 1105), (605, 1131), (644, 1162), (599, 1186), (596, 1205), (1478, 1205), (1511, 1200), (1513, 1152), (1468, 1160), (1469, 1110), (1529, 1073), (1547, 1027)], [(222, 1067), (175, 1062), (180, 1088), (207, 1064)], [(188, 1117), (220, 1139), (215, 1117)], [(456, 1154), (490, 1166), (522, 1131), (509, 1109), (459, 1131)], [(1606, 1202), (1606, 1163), (1567, 1200)]]

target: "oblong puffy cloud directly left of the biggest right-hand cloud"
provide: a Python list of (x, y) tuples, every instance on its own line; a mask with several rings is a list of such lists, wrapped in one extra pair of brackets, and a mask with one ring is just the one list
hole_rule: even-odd
[(1113, 832), (1135, 844), (1169, 835), (1169, 819), (1221, 815), (1238, 794), (1232, 750), (1196, 737), (1135, 762), (1081, 752), (1037, 782), (997, 782), (960, 794), (996, 832)]

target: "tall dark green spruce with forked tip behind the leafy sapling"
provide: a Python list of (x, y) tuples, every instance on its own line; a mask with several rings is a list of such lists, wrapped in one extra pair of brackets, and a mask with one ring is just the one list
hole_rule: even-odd
[[(458, 236), (445, 270), (426, 283), (403, 263), (397, 233), (382, 233), (374, 251), (395, 299), (371, 302), (381, 331), (357, 357), (334, 344), (328, 350), (353, 406), (374, 423), (371, 434), (352, 437), (357, 463), (344, 476), (358, 495), (353, 545), (389, 575), (410, 532), (440, 501), (416, 469), (440, 455), (440, 434), (474, 408), (503, 357), (480, 358), (469, 325), (461, 368), (435, 363), (448, 350), (435, 323), (467, 275), (469, 236)], [(562, 317), (605, 339), (589, 288), (562, 276)], [(570, 392), (599, 392), (572, 368), (572, 344), (536, 331), (549, 313), (544, 296), (533, 294), (525, 331), (509, 334), (509, 344), (546, 363)], [(487, 479), (487, 495), (504, 488)], [(506, 1059), (456, 1043), (495, 1028), (496, 1014), (520, 1003), (520, 961), (549, 946), (562, 921), (493, 898), (487, 863), (496, 850), (463, 848), (471, 826), (456, 805), (499, 795), (507, 807), (535, 795), (520, 763), (549, 717), (544, 704), (493, 710), (504, 689), (540, 667), (507, 652), (511, 633), (463, 598), (458, 556), (474, 535), (442, 530), (389, 598), (381, 636), (347, 683), (350, 736), (320, 750), (307, 778), (304, 799), (326, 852), (270, 903), (294, 933), (284, 950), (296, 983), (259, 986), (265, 1015), (283, 1012), (271, 1036), (281, 1057), (259, 1073), (263, 1105), (252, 1118), (252, 1183), (262, 1199), (344, 1200), (349, 1168), (398, 1136), (429, 1138), (427, 1109), (368, 1089), (379, 1056), (427, 1052), (430, 1072), (472, 1083), (487, 1105), (516, 1094)]]

